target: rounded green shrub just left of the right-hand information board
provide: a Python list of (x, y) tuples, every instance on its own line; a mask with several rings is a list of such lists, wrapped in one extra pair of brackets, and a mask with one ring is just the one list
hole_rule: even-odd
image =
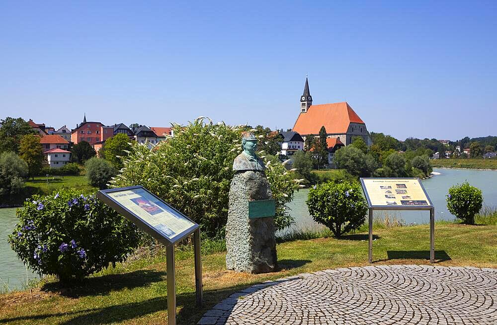
[(335, 236), (358, 229), (368, 212), (357, 181), (313, 186), (309, 190), (307, 207), (313, 219), (330, 228)]

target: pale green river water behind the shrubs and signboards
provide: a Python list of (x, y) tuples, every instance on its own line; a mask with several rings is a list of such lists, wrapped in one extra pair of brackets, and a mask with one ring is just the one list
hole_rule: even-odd
[[(471, 170), (471, 169), (441, 169), (435, 168), (435, 175), (422, 183), (435, 206), (436, 220), (453, 220), (455, 217), (447, 211), (445, 195), (450, 186), (468, 180), (471, 185), (480, 188), (484, 196), (484, 205), (497, 206), (497, 171)], [(308, 189), (295, 193), (293, 201), (289, 204), (291, 214), (295, 218), (295, 225), (285, 232), (303, 229), (317, 229), (321, 226), (314, 222), (307, 210), (306, 200)], [(7, 243), (7, 236), (17, 223), (15, 208), (0, 209), (0, 292), (5, 290), (6, 284), (10, 289), (22, 288), (27, 279), (36, 278), (37, 275), (28, 271), (24, 264), (17, 259), (14, 251)], [(375, 212), (380, 214), (380, 212)], [(390, 211), (397, 219), (402, 219), (407, 224), (423, 224), (429, 222), (429, 211)]]

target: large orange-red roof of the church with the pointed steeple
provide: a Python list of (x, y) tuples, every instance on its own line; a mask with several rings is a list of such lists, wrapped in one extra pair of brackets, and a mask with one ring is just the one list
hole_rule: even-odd
[(365, 124), (347, 102), (312, 105), (300, 113), (293, 131), (301, 135), (319, 134), (324, 125), (326, 133), (346, 133), (350, 123)]

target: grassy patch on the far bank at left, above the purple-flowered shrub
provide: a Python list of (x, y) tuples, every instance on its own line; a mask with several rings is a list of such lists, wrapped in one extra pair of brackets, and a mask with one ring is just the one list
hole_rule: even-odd
[(60, 188), (77, 188), (85, 192), (94, 191), (97, 188), (88, 185), (86, 175), (78, 176), (36, 176), (34, 179), (29, 178), (24, 188), (17, 195), (10, 195), (5, 198), (5, 202), (9, 205), (22, 205), (22, 202), (33, 194), (48, 195), (52, 191)]

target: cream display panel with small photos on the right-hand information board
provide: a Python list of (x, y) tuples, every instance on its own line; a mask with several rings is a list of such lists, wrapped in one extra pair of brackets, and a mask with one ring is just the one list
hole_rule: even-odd
[(361, 178), (371, 206), (432, 206), (419, 178)]

